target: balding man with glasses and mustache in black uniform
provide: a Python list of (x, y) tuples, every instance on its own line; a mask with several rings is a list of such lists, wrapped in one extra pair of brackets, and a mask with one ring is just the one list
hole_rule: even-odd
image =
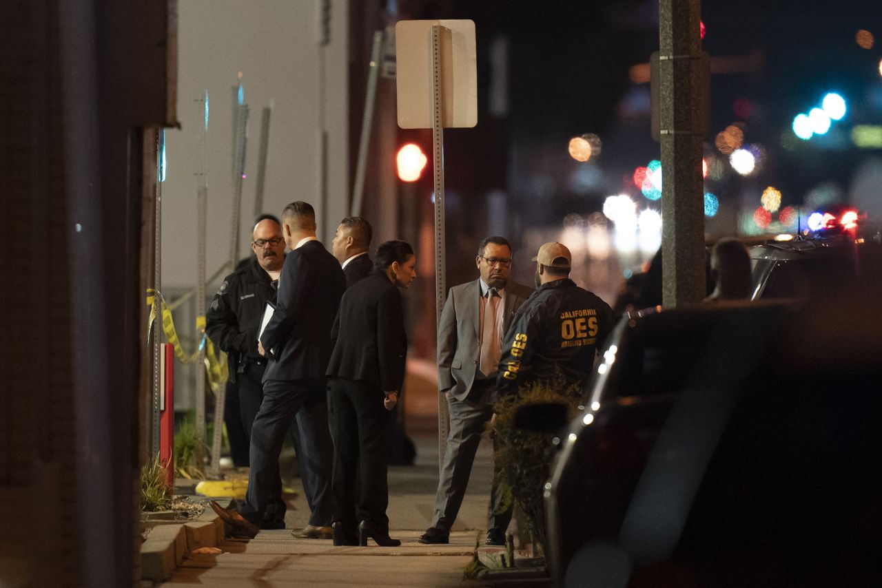
[(251, 425), (264, 397), (266, 368), (266, 358), (258, 354), (258, 330), (266, 302), (275, 301), (274, 284), (285, 261), (285, 240), (274, 217), (259, 220), (252, 237), (254, 256), (224, 279), (206, 313), (208, 336), (228, 355), (228, 387), (238, 388), (239, 414), (233, 416), (241, 420), (246, 443), (243, 455), (233, 451), (237, 466), (249, 465)]

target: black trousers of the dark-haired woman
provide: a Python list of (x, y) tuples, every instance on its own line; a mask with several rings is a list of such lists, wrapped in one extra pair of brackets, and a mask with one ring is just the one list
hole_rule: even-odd
[[(332, 378), (328, 383), (328, 418), (333, 438), (335, 521), (354, 528), (367, 521), (379, 532), (388, 531), (389, 486), (386, 480), (386, 444), (389, 412), (377, 386)], [(356, 498), (357, 496), (357, 498)]]

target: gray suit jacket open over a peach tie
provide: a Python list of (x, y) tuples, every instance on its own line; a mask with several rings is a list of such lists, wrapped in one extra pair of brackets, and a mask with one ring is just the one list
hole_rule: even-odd
[[(509, 280), (505, 285), (503, 333), (532, 290)], [(475, 382), (481, 357), (481, 279), (454, 286), (447, 294), (438, 324), (438, 391), (460, 400)]]

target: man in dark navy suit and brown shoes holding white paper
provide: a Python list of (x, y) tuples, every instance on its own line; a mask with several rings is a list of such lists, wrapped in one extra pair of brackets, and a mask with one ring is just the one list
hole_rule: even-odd
[(279, 454), (285, 431), (297, 419), (300, 431), (304, 487), (310, 504), (310, 523), (300, 536), (331, 537), (333, 513), (330, 488), (331, 436), (328, 431), (325, 368), (331, 356), (331, 328), (346, 278), (340, 264), (316, 238), (311, 205), (293, 202), (282, 214), (285, 257), (276, 295), (276, 308), (258, 343), (267, 361), (264, 399), (251, 428), (248, 493), (235, 510), (212, 508), (230, 525), (253, 536), (268, 504), (280, 504)]

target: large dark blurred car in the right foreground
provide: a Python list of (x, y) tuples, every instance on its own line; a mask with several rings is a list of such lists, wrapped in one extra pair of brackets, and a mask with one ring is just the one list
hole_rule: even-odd
[(878, 295), (625, 316), (545, 487), (552, 584), (882, 585)]

